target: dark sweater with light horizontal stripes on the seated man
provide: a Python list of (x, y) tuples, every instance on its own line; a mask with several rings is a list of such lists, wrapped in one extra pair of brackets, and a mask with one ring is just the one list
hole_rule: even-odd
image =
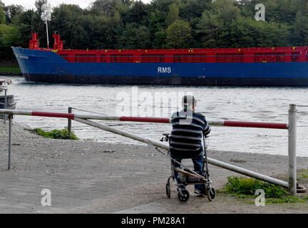
[(198, 155), (202, 151), (202, 133), (210, 133), (205, 116), (192, 111), (173, 113), (170, 152), (174, 155)]

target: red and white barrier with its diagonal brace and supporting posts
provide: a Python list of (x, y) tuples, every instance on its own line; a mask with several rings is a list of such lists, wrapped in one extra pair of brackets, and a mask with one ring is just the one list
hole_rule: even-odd
[[(145, 118), (145, 117), (118, 117), (118, 116), (108, 116), (108, 115), (84, 115), (75, 113), (48, 113), (48, 112), (37, 112), (31, 110), (7, 110), (0, 109), (0, 114), (9, 114), (9, 169), (11, 164), (11, 115), (33, 115), (33, 116), (44, 116), (53, 118), (68, 118), (69, 120), (76, 120), (80, 123), (85, 123), (87, 125), (92, 125), (96, 128), (101, 128), (103, 130), (108, 130), (112, 133), (118, 135), (123, 135), (140, 142), (145, 142), (148, 144), (153, 144), (157, 147), (164, 148), (168, 150), (167, 145), (163, 145), (160, 142), (155, 142), (143, 138), (138, 135), (133, 135), (131, 133), (125, 133), (122, 130), (117, 130), (105, 125), (94, 123), (88, 119), (92, 120), (118, 120), (118, 121), (130, 121), (130, 122), (146, 122), (146, 123), (170, 123), (169, 118)], [(239, 172), (242, 175), (247, 175), (250, 177), (255, 177), (266, 182), (271, 182), (275, 185), (281, 185), (283, 187), (289, 188), (289, 192), (292, 195), (297, 193), (297, 180), (296, 180), (296, 105), (290, 105), (289, 108), (289, 124), (284, 123), (255, 123), (255, 122), (241, 122), (241, 121), (208, 121), (210, 125), (221, 125), (228, 127), (242, 127), (242, 128), (274, 128), (274, 129), (288, 129), (289, 131), (289, 182), (283, 182), (281, 180), (274, 179), (265, 175), (261, 175), (257, 172), (252, 172), (250, 170), (245, 170), (241, 167), (227, 164), (225, 162), (220, 162), (208, 158), (210, 164), (216, 165), (218, 167), (225, 168), (227, 170), (232, 170), (234, 172)]]

